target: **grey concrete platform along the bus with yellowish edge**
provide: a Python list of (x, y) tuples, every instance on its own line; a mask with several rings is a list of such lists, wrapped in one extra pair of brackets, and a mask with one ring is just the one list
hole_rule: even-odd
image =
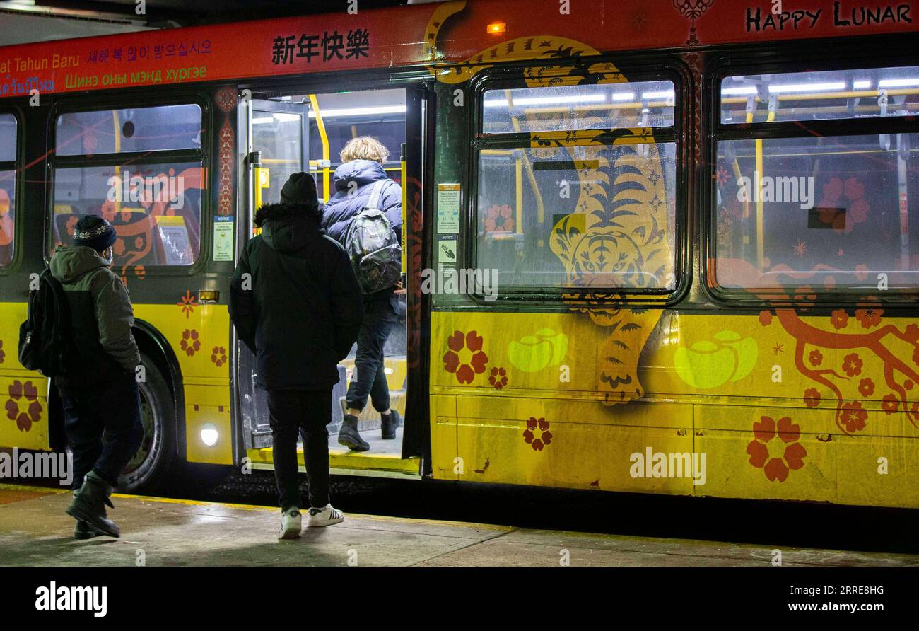
[[(278, 542), (278, 510), (115, 496), (122, 537), (72, 538), (70, 493), (0, 485), (0, 566), (771, 567), (772, 547), (348, 514)], [(919, 556), (788, 548), (784, 566), (915, 567)]]

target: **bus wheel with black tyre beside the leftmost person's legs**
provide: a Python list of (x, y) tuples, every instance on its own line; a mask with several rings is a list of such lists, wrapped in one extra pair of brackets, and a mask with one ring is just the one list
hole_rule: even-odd
[(151, 491), (163, 488), (176, 461), (176, 407), (165, 377), (156, 364), (141, 353), (146, 380), (141, 391), (143, 437), (137, 453), (119, 476), (119, 491)]

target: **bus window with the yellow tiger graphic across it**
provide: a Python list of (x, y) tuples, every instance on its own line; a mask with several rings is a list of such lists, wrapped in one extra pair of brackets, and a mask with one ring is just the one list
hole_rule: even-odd
[[(674, 103), (671, 81), (487, 90), (475, 267), (497, 270), (503, 293), (673, 290)], [(651, 141), (618, 142), (634, 128)]]

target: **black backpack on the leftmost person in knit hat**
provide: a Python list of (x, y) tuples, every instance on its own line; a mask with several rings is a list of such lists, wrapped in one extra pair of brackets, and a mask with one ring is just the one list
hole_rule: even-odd
[(28, 294), (28, 316), (19, 326), (19, 363), (46, 377), (59, 377), (69, 373), (74, 356), (67, 296), (45, 268), (39, 288)]

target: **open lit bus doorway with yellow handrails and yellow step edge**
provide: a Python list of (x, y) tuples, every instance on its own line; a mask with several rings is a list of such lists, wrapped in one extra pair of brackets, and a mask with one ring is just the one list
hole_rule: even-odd
[[(358, 137), (370, 137), (385, 147), (388, 155), (380, 160), (380, 169), (372, 170), (377, 176), (392, 180), (385, 187), (388, 201), (399, 200), (398, 211), (402, 215), (401, 231), (403, 249), (403, 288), (396, 292), (390, 302), (395, 323), (383, 347), (382, 373), (390, 394), (390, 407), (402, 418), (394, 439), (382, 437), (380, 412), (375, 409), (370, 397), (366, 407), (357, 417), (357, 429), (367, 451), (354, 451), (338, 442), (338, 433), (349, 407), (346, 403), (348, 386), (357, 377), (357, 344), (345, 360), (338, 365), (339, 383), (333, 389), (332, 418), (329, 419), (330, 466), (333, 473), (361, 476), (419, 476), (421, 458), (416, 444), (404, 441), (414, 424), (424, 422), (420, 415), (413, 414), (409, 401), (407, 335), (407, 294), (405, 243), (408, 223), (406, 212), (406, 182), (424, 179), (420, 171), (424, 164), (424, 142), (422, 121), (425, 117), (422, 91), (413, 88), (363, 90), (334, 94), (255, 94), (244, 98), (248, 130), (248, 225), (249, 238), (258, 233), (253, 224), (255, 210), (263, 204), (280, 201), (280, 190), (292, 173), (306, 171), (316, 180), (321, 206), (335, 201), (349, 193), (361, 195), (367, 185), (364, 174), (352, 174), (349, 166), (341, 169), (339, 178), (335, 171), (349, 160), (341, 155), (348, 141)], [(344, 176), (348, 173), (348, 179)], [(352, 177), (354, 176), (354, 177)], [(335, 197), (336, 192), (338, 197)], [(339, 226), (340, 227), (340, 226)], [(331, 229), (330, 229), (330, 232)], [(310, 318), (304, 314), (304, 326)], [(239, 411), (243, 425), (245, 454), (256, 468), (272, 467), (271, 430), (268, 423), (267, 398), (264, 390), (255, 385), (255, 358), (242, 343), (237, 343), (236, 362)], [(379, 379), (380, 377), (378, 377)], [(374, 388), (380, 394), (379, 384)], [(378, 402), (378, 406), (380, 404)], [(299, 457), (302, 458), (302, 445)], [(301, 460), (302, 466), (302, 460)]]

